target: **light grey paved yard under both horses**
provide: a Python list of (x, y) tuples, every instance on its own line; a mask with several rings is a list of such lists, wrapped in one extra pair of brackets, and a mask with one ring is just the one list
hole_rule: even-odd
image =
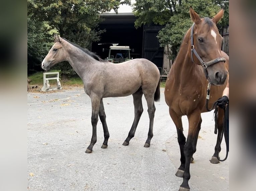
[[(28, 190), (33, 191), (172, 191), (182, 178), (175, 176), (180, 165), (176, 129), (168, 114), (161, 88), (155, 102), (154, 136), (149, 148), (143, 147), (149, 118), (144, 112), (135, 137), (122, 143), (133, 122), (132, 96), (104, 98), (110, 138), (102, 149), (103, 129), (99, 120), (93, 153), (85, 150), (91, 141), (91, 101), (82, 88), (53, 93), (27, 94)], [(194, 163), (190, 165), (191, 191), (226, 191), (229, 188), (229, 158), (211, 164), (216, 135), (213, 112), (202, 114)], [(184, 133), (188, 121), (183, 117)], [(224, 141), (223, 141), (224, 142)], [(225, 155), (222, 145), (221, 158)]]

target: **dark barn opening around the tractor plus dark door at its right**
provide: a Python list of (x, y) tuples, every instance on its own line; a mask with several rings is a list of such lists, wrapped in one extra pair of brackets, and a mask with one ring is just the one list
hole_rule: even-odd
[[(145, 58), (153, 62), (160, 70), (163, 67), (163, 47), (160, 47), (157, 34), (162, 26), (142, 26), (136, 29), (133, 13), (105, 13), (101, 14), (105, 20), (100, 23), (101, 35), (98, 42), (92, 43), (92, 52), (102, 59), (108, 57), (109, 46), (129, 46), (131, 58)], [(104, 49), (104, 52), (102, 51)]]

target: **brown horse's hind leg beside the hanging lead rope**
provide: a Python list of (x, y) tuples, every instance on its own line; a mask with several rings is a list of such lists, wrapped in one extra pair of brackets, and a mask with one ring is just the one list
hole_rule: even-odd
[(220, 145), (220, 141), (221, 141), (221, 132), (223, 129), (223, 119), (224, 119), (224, 110), (221, 108), (218, 108), (218, 135), (217, 135), (217, 142), (215, 145), (215, 152), (212, 156), (212, 159), (210, 160), (211, 163), (213, 164), (218, 164), (220, 163), (220, 161), (218, 160), (217, 156), (219, 156), (219, 153), (221, 152), (221, 145)]

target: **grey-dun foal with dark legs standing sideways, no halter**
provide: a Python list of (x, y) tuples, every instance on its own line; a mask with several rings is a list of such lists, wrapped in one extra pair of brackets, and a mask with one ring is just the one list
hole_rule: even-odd
[(160, 72), (156, 65), (146, 59), (133, 59), (113, 64), (101, 59), (96, 54), (84, 49), (65, 38), (54, 35), (54, 44), (42, 61), (41, 67), (49, 70), (53, 65), (68, 61), (84, 84), (84, 90), (92, 103), (92, 139), (86, 153), (93, 151), (97, 141), (96, 126), (98, 116), (102, 122), (104, 142), (101, 148), (107, 148), (109, 131), (103, 105), (104, 97), (133, 96), (134, 121), (123, 145), (128, 145), (134, 137), (139, 119), (143, 112), (142, 95), (148, 106), (149, 131), (144, 147), (150, 146), (153, 137), (155, 113), (154, 101), (160, 100)]

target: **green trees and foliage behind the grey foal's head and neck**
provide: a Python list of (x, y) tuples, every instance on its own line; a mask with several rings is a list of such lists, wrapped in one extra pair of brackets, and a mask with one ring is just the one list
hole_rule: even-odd
[[(28, 0), (28, 67), (39, 63), (53, 45), (53, 33), (91, 49), (91, 43), (100, 40), (98, 24), (100, 13), (117, 11), (120, 3), (129, 0)], [(67, 63), (58, 64), (55, 69), (69, 76), (75, 71)]]

